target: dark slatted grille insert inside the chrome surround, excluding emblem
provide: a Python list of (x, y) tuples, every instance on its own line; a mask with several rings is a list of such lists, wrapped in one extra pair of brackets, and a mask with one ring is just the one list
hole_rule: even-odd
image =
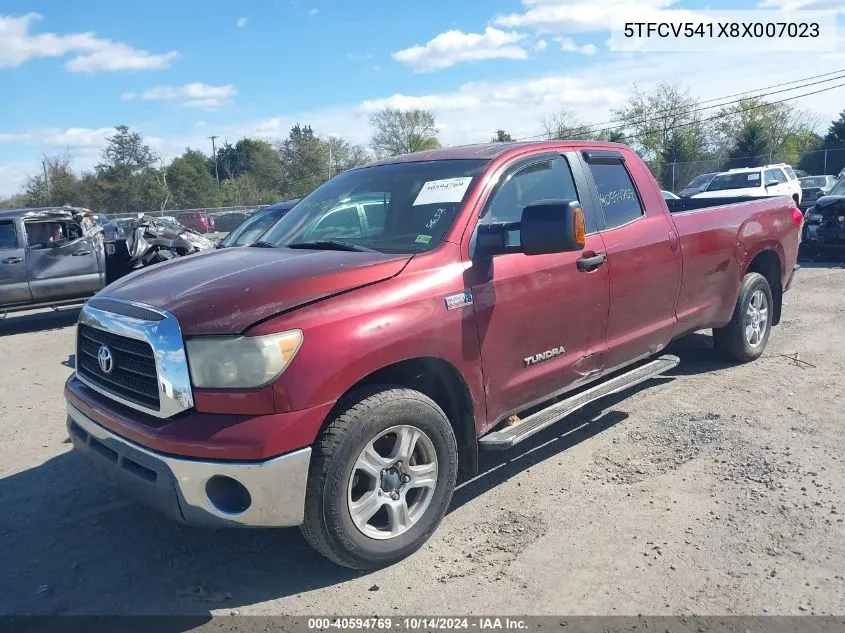
[[(145, 341), (126, 338), (79, 324), (76, 337), (77, 371), (105, 391), (150, 409), (159, 409), (158, 378), (153, 348)], [(100, 349), (111, 354), (106, 373), (98, 359)]]

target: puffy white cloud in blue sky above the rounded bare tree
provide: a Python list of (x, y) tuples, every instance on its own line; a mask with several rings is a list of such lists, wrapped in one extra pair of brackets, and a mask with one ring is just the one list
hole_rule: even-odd
[(416, 72), (431, 72), (462, 62), (487, 59), (527, 59), (528, 52), (518, 43), (525, 35), (487, 27), (484, 33), (452, 30), (440, 33), (423, 45), (393, 53), (393, 59)]

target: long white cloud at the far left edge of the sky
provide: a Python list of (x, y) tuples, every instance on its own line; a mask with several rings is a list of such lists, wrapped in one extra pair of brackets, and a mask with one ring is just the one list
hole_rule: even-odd
[(153, 70), (167, 68), (179, 57), (176, 51), (154, 54), (90, 32), (31, 33), (30, 28), (41, 19), (38, 13), (0, 16), (0, 68), (17, 68), (32, 59), (73, 55), (65, 64), (71, 72)]

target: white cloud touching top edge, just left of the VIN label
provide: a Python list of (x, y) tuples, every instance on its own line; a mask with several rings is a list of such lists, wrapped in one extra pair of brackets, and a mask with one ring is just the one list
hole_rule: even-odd
[(677, 0), (522, 0), (524, 13), (500, 15), (498, 26), (531, 28), (540, 33), (589, 33), (610, 29), (611, 16), (631, 16), (636, 22), (660, 17), (660, 10)]

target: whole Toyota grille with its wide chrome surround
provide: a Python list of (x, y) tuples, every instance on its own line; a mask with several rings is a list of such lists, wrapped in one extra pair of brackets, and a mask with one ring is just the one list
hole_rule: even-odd
[(76, 375), (126, 406), (159, 418), (194, 406), (188, 360), (172, 314), (97, 297), (79, 313)]

